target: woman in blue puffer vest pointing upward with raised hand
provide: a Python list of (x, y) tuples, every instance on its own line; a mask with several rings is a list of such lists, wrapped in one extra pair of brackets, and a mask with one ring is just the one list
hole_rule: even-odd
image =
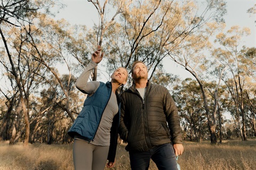
[(98, 46), (92, 61), (76, 81), (76, 87), (87, 98), (68, 134), (74, 138), (73, 160), (75, 169), (104, 169), (115, 164), (117, 132), (121, 98), (117, 89), (127, 81), (128, 72), (119, 67), (106, 84), (99, 81), (87, 82), (92, 70), (101, 62), (103, 53)]

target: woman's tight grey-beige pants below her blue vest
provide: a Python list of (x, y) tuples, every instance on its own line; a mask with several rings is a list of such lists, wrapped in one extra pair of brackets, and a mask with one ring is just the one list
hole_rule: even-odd
[(107, 163), (109, 146), (95, 146), (84, 140), (75, 139), (73, 161), (76, 170), (100, 170)]

